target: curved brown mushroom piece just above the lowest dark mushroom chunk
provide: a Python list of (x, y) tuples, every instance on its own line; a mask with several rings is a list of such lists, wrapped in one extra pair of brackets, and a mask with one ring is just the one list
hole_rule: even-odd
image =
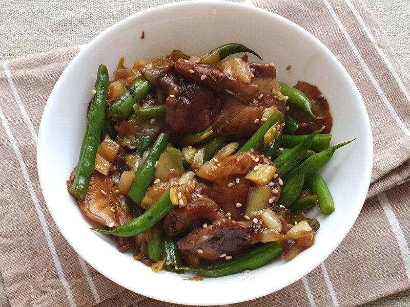
[(169, 236), (185, 232), (200, 220), (216, 221), (225, 217), (222, 210), (209, 198), (195, 197), (184, 207), (175, 207), (164, 219), (163, 229)]

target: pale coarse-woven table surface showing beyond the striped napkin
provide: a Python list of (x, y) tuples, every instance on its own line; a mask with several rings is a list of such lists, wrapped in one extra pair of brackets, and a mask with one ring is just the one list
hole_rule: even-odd
[[(410, 73), (410, 0), (362, 1)], [(174, 0), (0, 0), (0, 60), (86, 43), (128, 15), (170, 2)], [(362, 307), (370, 306), (410, 306), (410, 290)]]

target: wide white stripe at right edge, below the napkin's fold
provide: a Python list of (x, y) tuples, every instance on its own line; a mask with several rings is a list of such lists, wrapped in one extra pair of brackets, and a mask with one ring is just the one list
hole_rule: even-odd
[(384, 214), (386, 214), (387, 221), (393, 229), (393, 233), (396, 237), (397, 244), (399, 245), (400, 254), (404, 262), (404, 268), (406, 270), (407, 278), (410, 281), (410, 251), (403, 231), (401, 230), (399, 221), (397, 221), (396, 214), (392, 209), (392, 206), (387, 200), (387, 196), (384, 192), (377, 195), (380, 205), (383, 208)]

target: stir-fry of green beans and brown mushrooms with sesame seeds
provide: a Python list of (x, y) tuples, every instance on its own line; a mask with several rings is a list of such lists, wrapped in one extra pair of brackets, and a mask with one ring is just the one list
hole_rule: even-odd
[[(226, 58), (242, 53), (241, 57)], [(332, 158), (319, 89), (276, 79), (274, 63), (228, 43), (206, 55), (101, 64), (68, 190), (80, 210), (152, 270), (248, 273), (315, 243), (318, 170)], [(288, 67), (289, 69), (289, 67)]]

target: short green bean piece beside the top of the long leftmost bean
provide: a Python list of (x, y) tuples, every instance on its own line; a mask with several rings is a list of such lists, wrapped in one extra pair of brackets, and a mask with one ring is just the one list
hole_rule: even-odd
[(152, 84), (140, 76), (131, 84), (128, 90), (122, 92), (118, 101), (108, 108), (110, 116), (127, 117), (132, 112), (132, 106), (138, 103), (151, 90)]

